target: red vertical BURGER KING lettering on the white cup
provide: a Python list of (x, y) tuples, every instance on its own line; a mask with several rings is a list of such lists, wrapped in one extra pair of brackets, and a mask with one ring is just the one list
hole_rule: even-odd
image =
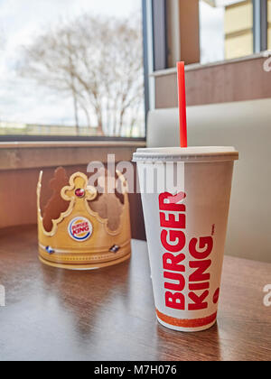
[[(205, 310), (210, 289), (211, 266), (210, 254), (213, 249), (213, 238), (201, 236), (192, 238), (187, 244), (186, 206), (182, 200), (184, 192), (173, 195), (164, 192), (159, 196), (161, 244), (164, 267), (164, 300), (165, 306), (174, 310)], [(181, 204), (180, 204), (181, 203)], [(189, 246), (186, 252), (185, 247)], [(192, 273), (183, 262), (188, 258)], [(188, 295), (183, 293), (189, 288)]]

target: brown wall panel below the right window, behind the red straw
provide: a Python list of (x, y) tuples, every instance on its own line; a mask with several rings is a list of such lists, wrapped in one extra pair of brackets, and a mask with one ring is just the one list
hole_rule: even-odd
[[(268, 52), (238, 60), (186, 67), (187, 106), (250, 101), (271, 97)], [(268, 62), (267, 62), (268, 63)], [(176, 69), (154, 73), (156, 108), (178, 106)]]

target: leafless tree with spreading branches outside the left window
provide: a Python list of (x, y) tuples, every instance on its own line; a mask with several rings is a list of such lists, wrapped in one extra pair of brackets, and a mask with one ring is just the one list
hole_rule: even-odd
[(121, 135), (142, 104), (142, 51), (140, 23), (85, 14), (23, 47), (18, 72), (73, 98), (78, 133), (80, 110), (98, 134)]

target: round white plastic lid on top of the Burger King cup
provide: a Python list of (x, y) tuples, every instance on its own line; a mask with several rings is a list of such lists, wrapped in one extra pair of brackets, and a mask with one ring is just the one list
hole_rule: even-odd
[(234, 147), (162, 147), (137, 149), (133, 162), (225, 162), (237, 161), (238, 151)]

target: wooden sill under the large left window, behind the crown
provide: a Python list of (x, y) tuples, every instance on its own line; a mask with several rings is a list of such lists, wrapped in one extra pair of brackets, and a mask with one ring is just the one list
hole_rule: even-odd
[(130, 161), (139, 147), (145, 147), (145, 142), (0, 143), (0, 171), (87, 166), (107, 162), (108, 154), (115, 154), (116, 162)]

